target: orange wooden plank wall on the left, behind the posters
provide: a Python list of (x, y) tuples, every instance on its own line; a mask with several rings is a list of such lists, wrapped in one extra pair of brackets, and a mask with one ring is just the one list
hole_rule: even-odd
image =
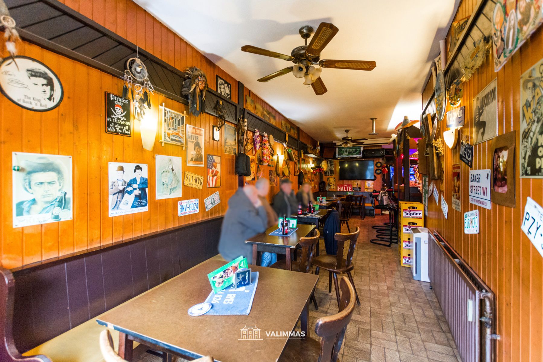
[[(91, 20), (125, 37), (175, 68), (197, 66), (210, 87), (216, 87), (216, 74), (232, 85), (237, 101), (237, 80), (174, 34), (153, 16), (130, 0), (65, 0), (64, 3)], [(197, 190), (183, 187), (180, 199), (155, 200), (155, 154), (181, 156), (183, 171), (205, 177), (205, 167), (187, 167), (186, 151), (175, 145), (155, 142), (153, 151), (142, 148), (138, 122), (132, 137), (114, 136), (104, 131), (104, 92), (121, 94), (122, 80), (79, 62), (28, 43), (18, 45), (19, 54), (46, 63), (59, 75), (64, 100), (55, 110), (31, 112), (0, 96), (0, 187), (6, 192), (0, 200), (1, 259), (5, 268), (42, 261), (75, 251), (108, 245), (120, 240), (165, 230), (224, 214), (227, 201), (237, 188), (233, 155), (224, 154), (224, 131), (220, 142), (211, 139), (216, 118), (207, 114), (187, 117), (187, 123), (205, 129), (205, 154), (222, 156), (222, 187)], [(152, 81), (152, 80), (151, 80)], [(185, 106), (159, 94), (152, 98), (152, 112), (158, 105), (175, 111)], [(269, 105), (267, 105), (269, 107)], [(275, 111), (275, 110), (274, 110)], [(13, 151), (73, 156), (74, 218), (44, 225), (12, 227), (11, 153)], [(149, 211), (110, 218), (108, 216), (108, 162), (148, 164)], [(203, 199), (219, 191), (221, 203), (205, 211)], [(177, 201), (199, 198), (200, 212), (179, 218)]]

